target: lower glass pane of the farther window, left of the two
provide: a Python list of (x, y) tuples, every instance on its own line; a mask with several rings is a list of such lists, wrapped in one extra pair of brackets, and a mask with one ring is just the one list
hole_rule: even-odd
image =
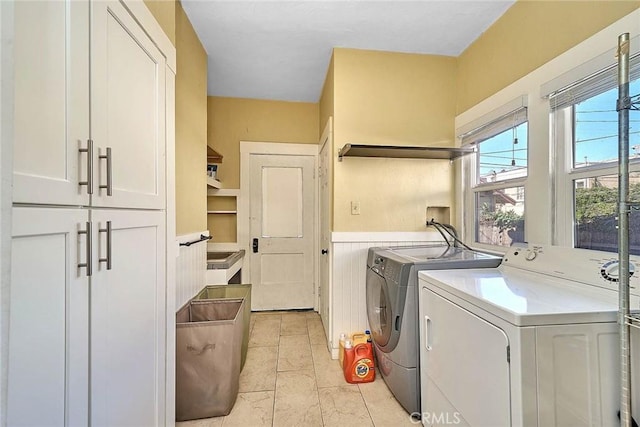
[(524, 242), (524, 187), (476, 193), (476, 241), (499, 246)]

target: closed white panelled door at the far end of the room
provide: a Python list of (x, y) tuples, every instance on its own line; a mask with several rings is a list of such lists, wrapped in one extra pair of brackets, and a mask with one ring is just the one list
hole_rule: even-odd
[(314, 306), (315, 156), (250, 156), (255, 310)]

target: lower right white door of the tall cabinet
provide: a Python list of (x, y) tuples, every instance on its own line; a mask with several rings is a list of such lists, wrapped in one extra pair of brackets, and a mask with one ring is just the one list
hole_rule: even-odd
[(91, 217), (94, 230), (111, 224), (110, 239), (94, 239), (94, 262), (110, 258), (111, 269), (101, 262), (91, 279), (91, 425), (164, 425), (164, 214)]

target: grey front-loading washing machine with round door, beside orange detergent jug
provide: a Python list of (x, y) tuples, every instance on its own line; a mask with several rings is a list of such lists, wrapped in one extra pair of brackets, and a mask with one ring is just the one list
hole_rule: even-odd
[(446, 244), (374, 247), (367, 259), (367, 317), (378, 369), (410, 414), (420, 413), (418, 271), (497, 267), (501, 257)]

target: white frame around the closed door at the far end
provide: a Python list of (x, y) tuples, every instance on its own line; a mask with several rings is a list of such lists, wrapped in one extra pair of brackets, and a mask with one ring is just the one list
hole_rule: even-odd
[[(276, 155), (276, 156), (314, 156), (315, 166), (313, 170), (313, 178), (315, 180), (313, 188), (313, 201), (316, 206), (319, 203), (319, 187), (318, 187), (318, 144), (298, 144), (298, 143), (281, 143), (281, 142), (252, 142), (240, 141), (240, 194), (238, 195), (238, 246), (244, 249), (245, 253), (251, 251), (251, 221), (249, 218), (251, 189), (250, 182), (250, 160), (251, 155)], [(318, 217), (318, 209), (313, 209), (313, 247), (318, 247), (320, 240), (320, 224)], [(313, 293), (314, 293), (314, 310), (318, 309), (318, 285), (319, 285), (319, 268), (318, 255), (313, 256)], [(245, 265), (242, 268), (242, 283), (251, 283), (251, 261), (250, 257), (245, 257)]]

